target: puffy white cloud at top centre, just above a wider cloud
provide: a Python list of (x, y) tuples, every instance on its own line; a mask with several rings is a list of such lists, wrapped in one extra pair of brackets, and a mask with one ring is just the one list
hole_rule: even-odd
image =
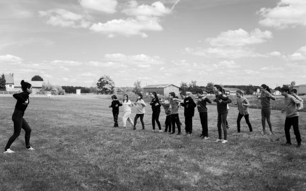
[(123, 9), (122, 12), (127, 15), (135, 16), (137, 20), (141, 21), (150, 20), (153, 16), (164, 16), (172, 12), (171, 8), (165, 7), (160, 1), (153, 2), (151, 5), (138, 5), (136, 0), (131, 0), (129, 3), (128, 8)]

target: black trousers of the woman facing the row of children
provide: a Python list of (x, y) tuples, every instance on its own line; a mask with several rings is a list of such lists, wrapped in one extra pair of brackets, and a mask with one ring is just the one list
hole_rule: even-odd
[(5, 149), (9, 149), (10, 145), (20, 135), (21, 128), (25, 131), (25, 146), (30, 146), (31, 128), (28, 123), (23, 119), (23, 112), (14, 111), (12, 115), (12, 120), (14, 122), (14, 134), (8, 139)]

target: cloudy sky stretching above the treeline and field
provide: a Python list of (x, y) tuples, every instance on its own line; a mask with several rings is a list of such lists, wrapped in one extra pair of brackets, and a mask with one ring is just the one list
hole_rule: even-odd
[(0, 73), (53, 85), (306, 84), (306, 0), (0, 0)]

